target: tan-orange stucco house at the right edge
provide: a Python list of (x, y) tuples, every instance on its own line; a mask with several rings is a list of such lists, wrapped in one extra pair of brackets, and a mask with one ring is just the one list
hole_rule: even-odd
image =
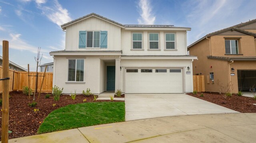
[(228, 85), (237, 93), (256, 86), (255, 38), (256, 20), (251, 20), (207, 34), (188, 46), (188, 53), (198, 57), (193, 74), (205, 75), (206, 91), (220, 92), (221, 85)]

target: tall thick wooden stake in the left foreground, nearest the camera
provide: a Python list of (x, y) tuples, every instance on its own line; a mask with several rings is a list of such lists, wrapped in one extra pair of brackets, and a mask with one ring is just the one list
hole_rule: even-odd
[[(3, 74), (2, 78), (9, 77), (9, 42), (3, 41)], [(8, 143), (9, 125), (9, 80), (3, 80), (2, 93), (2, 143)]]

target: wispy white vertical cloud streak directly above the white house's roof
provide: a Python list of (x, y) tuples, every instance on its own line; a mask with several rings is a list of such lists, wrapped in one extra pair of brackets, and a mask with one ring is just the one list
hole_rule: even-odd
[(148, 0), (140, 0), (140, 18), (138, 18), (139, 24), (153, 25), (156, 17), (152, 14), (152, 6)]

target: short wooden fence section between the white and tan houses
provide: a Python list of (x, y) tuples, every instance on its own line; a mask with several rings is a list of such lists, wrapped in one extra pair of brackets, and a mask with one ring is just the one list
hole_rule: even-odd
[(205, 92), (204, 75), (193, 75), (193, 91)]

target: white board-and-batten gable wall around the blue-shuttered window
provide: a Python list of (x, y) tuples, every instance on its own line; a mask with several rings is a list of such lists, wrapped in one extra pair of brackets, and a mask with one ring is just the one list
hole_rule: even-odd
[[(108, 47), (107, 48), (79, 48), (79, 31), (108, 31)], [(85, 51), (85, 50), (100, 50), (100, 51), (120, 51), (121, 50), (121, 27), (91, 17), (79, 21), (75, 24), (66, 27), (66, 51)]]

